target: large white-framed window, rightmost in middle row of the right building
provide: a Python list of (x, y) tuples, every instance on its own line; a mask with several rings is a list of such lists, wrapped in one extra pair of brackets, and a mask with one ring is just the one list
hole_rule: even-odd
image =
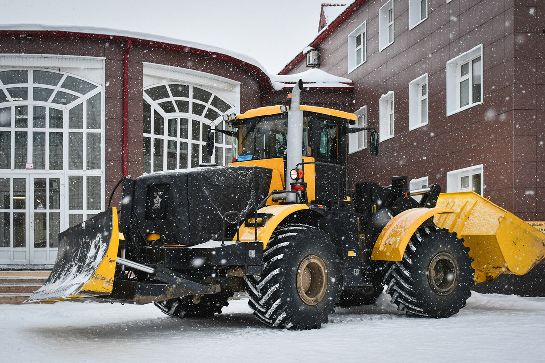
[[(479, 72), (481, 84), (480, 84), (480, 100), (473, 102), (473, 88), (474, 82), (474, 69), (472, 62), (480, 57), (480, 65), (477, 71)], [(469, 63), (469, 72), (467, 75), (461, 76), (461, 66)], [(451, 59), (446, 64), (446, 116), (467, 110), (468, 108), (475, 107), (483, 102), (483, 57), (482, 57), (482, 44), (477, 45), (473, 49), (459, 55), (456, 58)], [(460, 106), (460, 84), (461, 82), (469, 79), (469, 104)]]

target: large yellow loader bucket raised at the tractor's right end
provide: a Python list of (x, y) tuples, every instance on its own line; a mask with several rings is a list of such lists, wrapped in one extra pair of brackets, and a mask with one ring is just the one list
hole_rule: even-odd
[(545, 234), (477, 193), (441, 193), (437, 207), (455, 212), (435, 215), (434, 222), (464, 239), (475, 282), (524, 275), (545, 257)]

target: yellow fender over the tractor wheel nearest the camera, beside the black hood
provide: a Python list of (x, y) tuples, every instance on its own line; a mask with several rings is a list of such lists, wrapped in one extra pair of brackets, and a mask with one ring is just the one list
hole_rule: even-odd
[[(267, 247), (267, 243), (271, 238), (272, 233), (276, 230), (276, 227), (286, 219), (287, 216), (294, 214), (299, 210), (308, 210), (306, 204), (282, 204), (282, 205), (268, 205), (267, 207), (259, 209), (258, 213), (269, 213), (271, 217), (267, 218), (263, 227), (257, 227), (257, 239), (263, 242), (263, 249)], [(256, 239), (255, 227), (246, 227), (242, 225), (240, 227), (240, 240), (241, 241), (254, 241)], [(233, 241), (237, 240), (237, 235), (233, 238)]]

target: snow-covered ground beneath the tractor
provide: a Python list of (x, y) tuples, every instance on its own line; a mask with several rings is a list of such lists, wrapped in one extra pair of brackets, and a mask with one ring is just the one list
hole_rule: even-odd
[(0, 305), (3, 362), (543, 361), (545, 298), (473, 293), (449, 319), (408, 318), (381, 295), (339, 308), (320, 330), (265, 328), (247, 300), (208, 320), (153, 304)]

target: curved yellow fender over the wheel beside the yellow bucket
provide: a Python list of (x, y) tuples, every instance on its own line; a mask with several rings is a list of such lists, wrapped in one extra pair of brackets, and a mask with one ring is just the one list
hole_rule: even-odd
[(388, 222), (373, 247), (371, 259), (401, 261), (409, 240), (420, 225), (436, 214), (454, 213), (447, 208), (414, 208), (405, 210)]

